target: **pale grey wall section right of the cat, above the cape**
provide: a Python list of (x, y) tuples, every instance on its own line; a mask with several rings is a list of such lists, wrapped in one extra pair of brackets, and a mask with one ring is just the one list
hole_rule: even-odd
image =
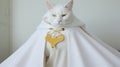
[(120, 49), (120, 0), (81, 0), (76, 4), (80, 6), (79, 16), (88, 29), (104, 42)]

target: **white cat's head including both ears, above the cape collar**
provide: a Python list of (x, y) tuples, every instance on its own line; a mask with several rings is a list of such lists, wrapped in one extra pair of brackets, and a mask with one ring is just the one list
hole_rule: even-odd
[(48, 1), (46, 3), (48, 7), (48, 12), (43, 18), (45, 23), (48, 23), (55, 27), (59, 27), (67, 25), (73, 21), (73, 0), (70, 0), (65, 5), (53, 6)]

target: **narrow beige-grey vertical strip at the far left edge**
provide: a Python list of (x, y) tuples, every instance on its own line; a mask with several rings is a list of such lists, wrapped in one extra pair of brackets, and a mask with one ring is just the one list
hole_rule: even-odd
[(9, 56), (9, 0), (0, 0), (0, 62)]

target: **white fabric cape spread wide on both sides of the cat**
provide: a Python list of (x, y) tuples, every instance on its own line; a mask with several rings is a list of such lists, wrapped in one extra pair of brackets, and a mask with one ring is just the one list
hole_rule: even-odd
[[(83, 27), (66, 26), (67, 67), (120, 67), (120, 53)], [(43, 23), (0, 67), (44, 67), (45, 36), (49, 25)], [(58, 66), (60, 67), (60, 66)]]

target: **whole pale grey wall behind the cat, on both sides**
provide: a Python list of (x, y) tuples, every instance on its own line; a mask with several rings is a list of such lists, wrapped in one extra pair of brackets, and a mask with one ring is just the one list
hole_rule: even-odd
[[(47, 11), (45, 0), (13, 0), (12, 49), (15, 51), (34, 32)], [(50, 0), (66, 3), (67, 0)], [(120, 0), (74, 0), (74, 13), (89, 31), (120, 49)]]

